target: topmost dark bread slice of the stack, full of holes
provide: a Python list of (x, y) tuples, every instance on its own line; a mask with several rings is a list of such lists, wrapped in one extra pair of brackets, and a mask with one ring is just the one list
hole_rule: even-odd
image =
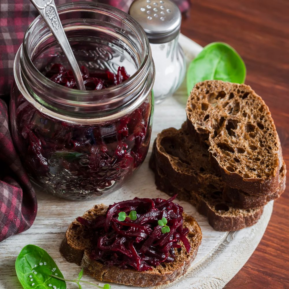
[(226, 184), (249, 194), (277, 190), (279, 137), (267, 105), (250, 86), (197, 83), (186, 113), (189, 127), (209, 145), (214, 168)]

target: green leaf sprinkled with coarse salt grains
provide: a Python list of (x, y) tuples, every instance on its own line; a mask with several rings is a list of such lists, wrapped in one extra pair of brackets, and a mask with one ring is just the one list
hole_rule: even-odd
[(38, 246), (27, 245), (21, 250), (15, 262), (15, 270), (24, 289), (52, 289), (55, 288), (53, 286), (66, 289), (65, 281), (50, 276), (53, 274), (63, 278), (50, 255)]

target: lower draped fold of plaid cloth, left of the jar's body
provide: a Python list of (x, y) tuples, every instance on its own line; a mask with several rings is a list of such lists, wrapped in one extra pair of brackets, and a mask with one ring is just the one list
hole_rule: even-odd
[(36, 212), (35, 193), (12, 142), (6, 103), (0, 99), (0, 242), (27, 230)]

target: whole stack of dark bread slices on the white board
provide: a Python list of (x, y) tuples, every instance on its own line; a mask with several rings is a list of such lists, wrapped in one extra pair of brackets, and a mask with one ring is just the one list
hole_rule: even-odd
[(190, 201), (218, 231), (255, 224), (285, 190), (286, 165), (271, 113), (250, 86), (218, 80), (193, 88), (181, 129), (153, 144), (158, 188)]

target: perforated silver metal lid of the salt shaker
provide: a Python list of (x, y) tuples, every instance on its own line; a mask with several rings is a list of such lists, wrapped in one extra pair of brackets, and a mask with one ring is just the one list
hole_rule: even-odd
[(129, 14), (140, 23), (151, 43), (169, 42), (179, 34), (181, 12), (170, 0), (135, 0)]

